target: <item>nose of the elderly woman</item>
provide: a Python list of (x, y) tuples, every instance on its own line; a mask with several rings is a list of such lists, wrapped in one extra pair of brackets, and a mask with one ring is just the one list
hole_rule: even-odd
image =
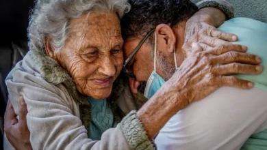
[(114, 76), (116, 74), (114, 60), (112, 60), (110, 55), (107, 55), (103, 58), (99, 72), (105, 74), (106, 76)]

